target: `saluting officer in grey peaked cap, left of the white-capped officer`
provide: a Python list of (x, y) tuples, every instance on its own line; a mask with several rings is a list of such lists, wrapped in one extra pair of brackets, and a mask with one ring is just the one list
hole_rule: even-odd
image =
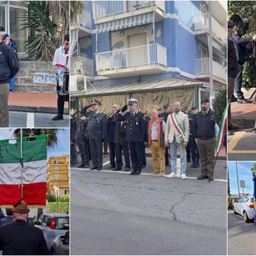
[[(89, 138), (90, 156), (93, 162), (90, 170), (102, 170), (102, 142), (106, 140), (107, 121), (106, 114), (100, 110), (101, 105), (101, 102), (93, 100), (92, 104), (85, 106), (80, 112), (89, 118), (86, 134)], [(90, 106), (93, 110), (87, 111)]]

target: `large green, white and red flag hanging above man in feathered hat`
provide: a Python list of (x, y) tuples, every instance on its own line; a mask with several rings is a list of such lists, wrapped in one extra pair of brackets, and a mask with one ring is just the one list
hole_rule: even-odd
[(46, 205), (46, 135), (0, 141), (0, 205)]

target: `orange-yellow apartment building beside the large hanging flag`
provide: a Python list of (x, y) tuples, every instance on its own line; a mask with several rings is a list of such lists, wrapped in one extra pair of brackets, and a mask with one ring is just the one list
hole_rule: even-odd
[(70, 194), (70, 156), (52, 156), (47, 160), (47, 190), (60, 197)]

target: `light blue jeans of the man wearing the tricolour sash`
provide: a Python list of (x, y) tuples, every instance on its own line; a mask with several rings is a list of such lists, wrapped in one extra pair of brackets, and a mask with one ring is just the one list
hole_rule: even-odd
[(174, 138), (173, 142), (170, 143), (170, 168), (171, 172), (177, 173), (177, 150), (181, 156), (181, 173), (186, 174), (186, 147), (182, 146), (181, 143), (177, 143)]

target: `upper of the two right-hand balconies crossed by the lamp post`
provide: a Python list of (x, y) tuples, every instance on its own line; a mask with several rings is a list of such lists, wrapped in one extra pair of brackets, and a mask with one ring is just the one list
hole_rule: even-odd
[[(209, 13), (199, 14), (193, 16), (192, 28), (196, 35), (201, 35), (209, 32)], [(223, 27), (213, 16), (212, 21), (212, 34), (214, 38), (222, 43), (226, 42), (226, 27)]]

